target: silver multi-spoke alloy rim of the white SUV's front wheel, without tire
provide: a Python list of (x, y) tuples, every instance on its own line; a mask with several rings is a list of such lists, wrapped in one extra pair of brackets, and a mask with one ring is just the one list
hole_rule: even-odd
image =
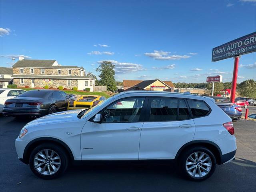
[(60, 169), (60, 165), (60, 156), (51, 149), (41, 150), (34, 157), (34, 167), (43, 175), (55, 174)]

